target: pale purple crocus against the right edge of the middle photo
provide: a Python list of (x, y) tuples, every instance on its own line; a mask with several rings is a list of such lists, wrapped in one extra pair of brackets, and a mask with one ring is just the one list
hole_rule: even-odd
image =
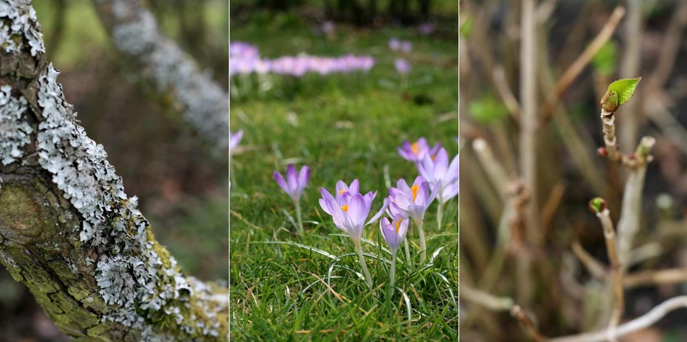
[(449, 164), (446, 149), (440, 148), (436, 156), (425, 155), (418, 163), (418, 171), (430, 186), (439, 184), (436, 198), (440, 203), (446, 203), (458, 195), (458, 155)]

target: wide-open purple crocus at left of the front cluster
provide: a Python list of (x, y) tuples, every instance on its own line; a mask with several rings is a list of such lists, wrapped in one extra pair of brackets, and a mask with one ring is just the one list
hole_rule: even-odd
[[(339, 181), (341, 184), (346, 185), (343, 181)], [(376, 196), (376, 192), (368, 192), (365, 196), (359, 194), (357, 191), (357, 180), (351, 183), (348, 190), (339, 189), (339, 183), (337, 182), (337, 196), (332, 196), (324, 187), (320, 191), (322, 193), (322, 198), (319, 200), (319, 205), (322, 210), (327, 214), (330, 214), (334, 220), (334, 224), (337, 228), (348, 233), (348, 236), (356, 244), (360, 243), (363, 236), (363, 227), (373, 223), (379, 216), (384, 213), (388, 203), (387, 198), (384, 198), (384, 203), (374, 216), (367, 223), (365, 219), (368, 218), (370, 214), (370, 209), (372, 208), (372, 201)], [(355, 185), (355, 187), (354, 187)], [(355, 192), (352, 194), (352, 192)]]

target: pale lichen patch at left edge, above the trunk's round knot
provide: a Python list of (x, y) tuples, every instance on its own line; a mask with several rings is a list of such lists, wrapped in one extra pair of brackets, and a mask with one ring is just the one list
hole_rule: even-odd
[(23, 96), (12, 97), (12, 87), (0, 87), (0, 161), (8, 165), (23, 156), (23, 146), (31, 142), (31, 126), (22, 119), (27, 109)]

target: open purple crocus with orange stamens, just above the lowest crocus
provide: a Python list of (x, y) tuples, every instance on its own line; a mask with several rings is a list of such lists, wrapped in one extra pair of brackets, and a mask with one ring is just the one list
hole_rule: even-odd
[(396, 187), (389, 189), (390, 212), (394, 216), (402, 214), (405, 218), (412, 218), (421, 225), (420, 221), (425, 219), (427, 207), (434, 201), (440, 183), (436, 183), (430, 193), (429, 184), (423, 176), (417, 176), (412, 186), (408, 186), (405, 179), (399, 179)]

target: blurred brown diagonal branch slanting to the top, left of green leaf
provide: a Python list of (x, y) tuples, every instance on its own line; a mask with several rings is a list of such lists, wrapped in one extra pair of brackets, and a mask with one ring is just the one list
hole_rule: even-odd
[(556, 83), (556, 87), (554, 87), (554, 91), (552, 91), (548, 100), (541, 109), (541, 112), (539, 113), (543, 123), (549, 121), (554, 107), (556, 104), (558, 104), (561, 95), (563, 95), (565, 90), (570, 87), (572, 81), (577, 78), (577, 76), (582, 72), (583, 69), (585, 69), (592, 58), (594, 58), (594, 55), (596, 55), (599, 49), (601, 49), (601, 47), (603, 47), (603, 45), (611, 38), (611, 36), (613, 36), (613, 32), (616, 31), (618, 23), (620, 23), (620, 19), (622, 19), (624, 14), (625, 9), (622, 8), (622, 6), (616, 7), (616, 9), (613, 10), (613, 13), (611, 13), (606, 25), (604, 25), (601, 31), (596, 35), (596, 38), (594, 38), (594, 41), (592, 41), (592, 43), (587, 46), (585, 51), (583, 51), (582, 54), (580, 54), (580, 56), (578, 56), (576, 60), (572, 62), (570, 67), (565, 69), (563, 76), (559, 78), (559, 81)]

